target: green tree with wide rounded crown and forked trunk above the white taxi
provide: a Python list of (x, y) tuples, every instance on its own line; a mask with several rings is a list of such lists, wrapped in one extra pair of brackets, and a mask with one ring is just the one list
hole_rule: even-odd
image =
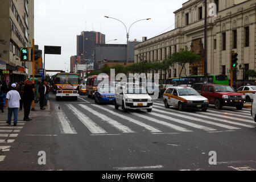
[[(183, 69), (185, 69), (185, 64), (195, 63), (199, 61), (200, 58), (201, 56), (197, 55), (195, 52), (184, 50), (184, 49), (180, 49), (179, 52), (175, 52), (172, 54), (172, 56), (170, 57), (172, 63), (176, 63), (181, 66), (181, 70), (179, 73), (179, 80), (180, 80), (181, 72), (183, 71)], [(185, 69), (185, 75), (186, 75), (186, 71), (187, 70)]]

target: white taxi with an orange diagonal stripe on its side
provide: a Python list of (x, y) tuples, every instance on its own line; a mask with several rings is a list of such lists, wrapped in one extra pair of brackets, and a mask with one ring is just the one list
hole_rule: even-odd
[(184, 109), (201, 109), (207, 111), (209, 100), (201, 96), (195, 89), (186, 86), (173, 86), (164, 92), (164, 106), (178, 107), (179, 110)]

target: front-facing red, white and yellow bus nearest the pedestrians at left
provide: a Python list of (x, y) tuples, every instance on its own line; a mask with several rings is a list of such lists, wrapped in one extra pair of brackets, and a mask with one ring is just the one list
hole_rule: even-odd
[(77, 100), (79, 97), (80, 76), (75, 73), (57, 73), (52, 77), (52, 91), (56, 100), (60, 98), (71, 98)]

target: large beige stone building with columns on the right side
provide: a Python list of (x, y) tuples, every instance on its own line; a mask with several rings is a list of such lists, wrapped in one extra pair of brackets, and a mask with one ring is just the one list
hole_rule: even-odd
[[(214, 3), (214, 4), (213, 4)], [(216, 5), (216, 8), (213, 5)], [(255, 0), (209, 0), (207, 26), (207, 72), (210, 75), (230, 77), (230, 52), (238, 53), (240, 69), (237, 85), (242, 80), (254, 82), (243, 75), (247, 69), (256, 69), (256, 2)], [(135, 63), (141, 60), (168, 59), (180, 48), (201, 55), (199, 63), (186, 65), (187, 75), (204, 75), (204, 1), (190, 0), (174, 12), (175, 28), (143, 41), (135, 46)], [(159, 72), (160, 80), (177, 77), (180, 67), (170, 67), (171, 75)], [(183, 76), (184, 72), (182, 73)]]

